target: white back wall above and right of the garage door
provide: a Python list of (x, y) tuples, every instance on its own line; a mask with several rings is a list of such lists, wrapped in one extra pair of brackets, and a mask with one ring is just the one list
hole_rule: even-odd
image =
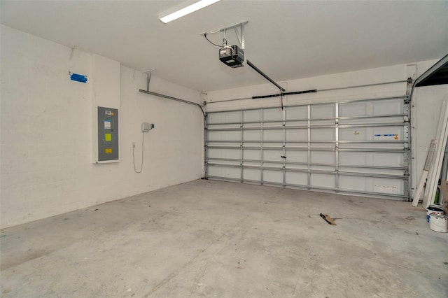
[[(420, 76), (423, 72), (429, 69), (430, 66), (435, 64), (435, 62), (437, 62), (437, 60), (416, 62), (413, 64), (393, 65), (377, 69), (366, 69), (363, 71), (337, 73), (314, 78), (304, 78), (300, 80), (289, 80), (287, 82), (279, 82), (279, 84), (282, 85), (282, 87), (285, 87), (286, 91), (293, 92), (300, 90), (323, 90), (327, 88), (406, 80), (411, 73), (415, 72), (415, 67), (416, 76)], [(269, 75), (268, 71), (267, 74)], [(261, 77), (260, 80), (262, 80)], [(279, 97), (274, 97), (271, 99), (244, 99), (258, 95), (276, 94), (278, 92), (279, 90), (270, 83), (207, 92), (207, 111), (280, 106)], [(283, 104), (313, 104), (319, 102), (341, 101), (344, 99), (394, 97), (402, 96), (405, 93), (406, 83), (397, 83), (375, 87), (360, 87), (346, 90), (293, 95), (286, 97)], [(241, 98), (244, 100), (219, 103), (219, 101), (222, 100)], [(417, 179), (421, 176), (430, 139), (435, 138), (442, 101), (447, 98), (447, 85), (419, 87), (414, 93), (414, 110), (412, 112), (412, 116), (414, 127), (416, 128), (414, 129), (412, 135), (414, 149), (414, 162), (412, 170), (413, 187), (415, 187), (416, 181), (418, 181)]]

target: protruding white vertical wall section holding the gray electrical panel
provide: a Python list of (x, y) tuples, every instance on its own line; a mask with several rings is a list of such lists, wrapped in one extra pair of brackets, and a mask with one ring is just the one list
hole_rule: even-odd
[[(106, 113), (106, 111), (113, 113), (112, 118), (101, 118), (99, 109), (102, 110), (102, 113)], [(92, 55), (92, 162), (94, 164), (120, 162), (119, 110), (120, 62)], [(113, 132), (109, 132), (111, 129), (107, 129), (109, 121), (111, 123), (114, 121)], [(99, 146), (102, 141), (110, 142), (111, 145), (113, 142), (116, 144), (113, 145), (113, 148), (112, 146)]]

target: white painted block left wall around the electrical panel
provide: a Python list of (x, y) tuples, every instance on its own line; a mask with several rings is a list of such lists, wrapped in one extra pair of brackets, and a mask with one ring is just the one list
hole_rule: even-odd
[[(92, 55), (1, 25), (1, 227), (200, 178), (200, 110), (140, 93), (146, 76), (120, 69), (121, 161), (92, 164), (92, 80), (69, 80), (69, 71), (91, 78)], [(155, 76), (151, 91), (200, 102)], [(137, 174), (141, 122), (155, 129)]]

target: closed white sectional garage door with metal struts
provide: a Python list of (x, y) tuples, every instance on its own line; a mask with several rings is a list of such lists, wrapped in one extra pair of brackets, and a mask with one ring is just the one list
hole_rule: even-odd
[(207, 114), (206, 178), (409, 199), (408, 97)]

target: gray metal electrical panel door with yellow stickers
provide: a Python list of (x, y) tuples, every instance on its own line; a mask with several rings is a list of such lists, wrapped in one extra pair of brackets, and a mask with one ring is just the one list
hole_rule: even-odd
[(118, 109), (98, 107), (98, 161), (118, 160)]

